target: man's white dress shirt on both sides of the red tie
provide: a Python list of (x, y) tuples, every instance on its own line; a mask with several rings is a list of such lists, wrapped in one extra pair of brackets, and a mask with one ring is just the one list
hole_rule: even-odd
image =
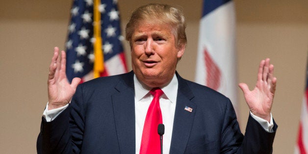
[[(148, 108), (153, 100), (150, 93), (152, 88), (142, 84), (134, 75), (135, 86), (135, 129), (136, 129), (136, 154), (139, 154), (144, 121)], [(169, 154), (173, 130), (173, 120), (176, 111), (178, 78), (173, 76), (171, 82), (165, 87), (159, 87), (164, 94), (159, 98), (159, 105), (162, 114), (162, 123), (165, 125), (163, 135), (163, 153)], [(158, 126), (157, 126), (158, 127)]]

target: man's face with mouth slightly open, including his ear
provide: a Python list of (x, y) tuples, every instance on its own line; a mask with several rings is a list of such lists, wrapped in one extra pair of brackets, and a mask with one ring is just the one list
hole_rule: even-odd
[(171, 26), (140, 23), (131, 39), (132, 70), (146, 85), (164, 86), (174, 76), (184, 49), (184, 45), (176, 47)]

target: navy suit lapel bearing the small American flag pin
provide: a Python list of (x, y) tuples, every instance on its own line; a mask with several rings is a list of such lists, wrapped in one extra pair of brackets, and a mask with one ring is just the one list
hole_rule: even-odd
[[(183, 154), (189, 139), (197, 105), (191, 100), (194, 95), (186, 81), (177, 73), (179, 88), (177, 106), (173, 124), (170, 154)], [(192, 108), (192, 112), (185, 110), (185, 106)]]

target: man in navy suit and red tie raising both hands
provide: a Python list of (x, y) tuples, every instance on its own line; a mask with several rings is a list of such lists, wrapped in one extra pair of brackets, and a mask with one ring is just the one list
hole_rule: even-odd
[[(277, 125), (270, 112), (276, 87), (270, 60), (260, 62), (253, 91), (239, 84), (251, 111), (243, 136), (228, 98), (176, 72), (187, 42), (185, 26), (180, 9), (139, 7), (126, 26), (132, 71), (79, 86), (80, 78), (68, 83), (65, 52), (60, 58), (55, 48), (38, 153), (157, 154), (157, 125), (149, 121), (165, 125), (165, 154), (271, 153)], [(160, 120), (149, 120), (153, 104)], [(147, 134), (153, 129), (155, 134)]]

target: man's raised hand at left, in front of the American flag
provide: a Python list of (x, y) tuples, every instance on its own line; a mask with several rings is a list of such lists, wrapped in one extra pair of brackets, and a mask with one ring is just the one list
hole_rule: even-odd
[(53, 57), (49, 67), (48, 76), (48, 110), (59, 108), (70, 103), (78, 83), (80, 82), (79, 77), (75, 77), (70, 84), (66, 74), (66, 53), (61, 51), (59, 48), (54, 48)]

